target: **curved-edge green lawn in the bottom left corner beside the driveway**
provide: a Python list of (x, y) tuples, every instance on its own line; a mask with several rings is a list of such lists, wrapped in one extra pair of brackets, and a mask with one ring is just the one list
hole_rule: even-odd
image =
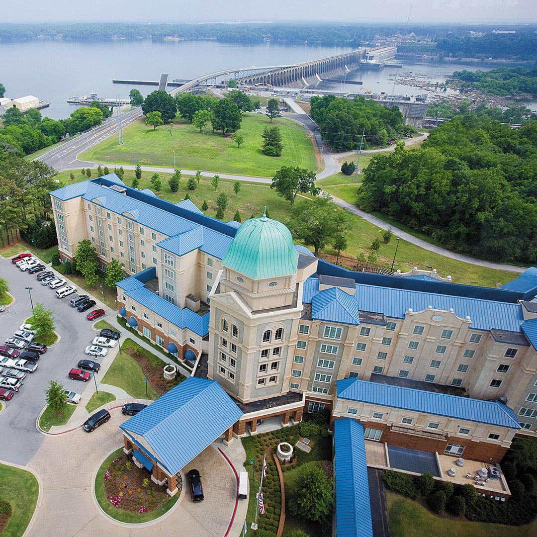
[(0, 465), (0, 498), (11, 504), (12, 514), (2, 535), (20, 537), (32, 519), (39, 495), (37, 479), (29, 471)]

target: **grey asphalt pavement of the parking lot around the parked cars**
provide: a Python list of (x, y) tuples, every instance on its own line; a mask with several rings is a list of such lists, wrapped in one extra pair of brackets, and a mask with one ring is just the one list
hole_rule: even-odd
[[(47, 267), (46, 270), (51, 269)], [(3, 441), (0, 442), (0, 460), (26, 465), (45, 438), (37, 431), (35, 420), (45, 405), (45, 390), (49, 380), (62, 382), (66, 389), (79, 394), (93, 382), (71, 380), (68, 373), (72, 367), (76, 367), (78, 360), (91, 358), (84, 354), (84, 349), (98, 333), (92, 330), (93, 322), (86, 319), (86, 314), (95, 308), (108, 310), (97, 302), (95, 308), (78, 313), (76, 308), (69, 306), (70, 299), (76, 294), (58, 299), (53, 289), (42, 286), (35, 274), (21, 272), (10, 259), (0, 259), (0, 275), (8, 281), (10, 293), (15, 297), (15, 302), (0, 313), (0, 345), (3, 345), (6, 338), (12, 337), (26, 318), (32, 316), (26, 287), (33, 287), (34, 306), (41, 302), (45, 308), (54, 311), (56, 332), (60, 335), (59, 341), (41, 354), (37, 371), (26, 375), (19, 393), (14, 394), (10, 401), (2, 401), (4, 410), (0, 413), (0, 430)], [(79, 291), (87, 294), (83, 289)], [(95, 297), (92, 298), (95, 300)]]

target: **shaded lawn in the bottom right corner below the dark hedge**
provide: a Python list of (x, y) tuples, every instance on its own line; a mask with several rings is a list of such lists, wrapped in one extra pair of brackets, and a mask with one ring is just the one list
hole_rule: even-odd
[(391, 537), (526, 537), (537, 534), (537, 520), (524, 526), (439, 517), (396, 492), (386, 491)]

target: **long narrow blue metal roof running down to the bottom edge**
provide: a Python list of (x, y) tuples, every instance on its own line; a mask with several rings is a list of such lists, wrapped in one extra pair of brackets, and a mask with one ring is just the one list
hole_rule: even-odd
[(334, 422), (337, 537), (373, 537), (364, 426), (351, 418)]

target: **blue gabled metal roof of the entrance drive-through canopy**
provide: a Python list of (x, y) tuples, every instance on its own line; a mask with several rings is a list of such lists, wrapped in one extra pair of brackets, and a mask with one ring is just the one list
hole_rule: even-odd
[(173, 475), (241, 416), (219, 383), (188, 377), (119, 427), (143, 437)]

